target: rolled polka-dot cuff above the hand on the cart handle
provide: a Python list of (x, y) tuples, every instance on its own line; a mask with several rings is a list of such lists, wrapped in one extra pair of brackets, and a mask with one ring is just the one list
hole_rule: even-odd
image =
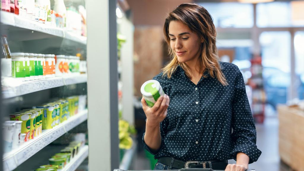
[(262, 153), (259, 149), (257, 149), (257, 145), (255, 144), (239, 144), (233, 149), (230, 155), (230, 157), (233, 158), (235, 161), (237, 161), (238, 152), (243, 152), (249, 156), (248, 164), (256, 162)]

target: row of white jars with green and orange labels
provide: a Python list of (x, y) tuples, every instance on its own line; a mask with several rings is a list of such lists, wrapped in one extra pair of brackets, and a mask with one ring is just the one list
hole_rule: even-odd
[[(85, 72), (86, 62), (76, 56), (54, 54), (11, 53), (11, 58), (3, 58), (2, 75), (21, 81), (53, 78)], [(57, 58), (57, 60), (56, 60)]]

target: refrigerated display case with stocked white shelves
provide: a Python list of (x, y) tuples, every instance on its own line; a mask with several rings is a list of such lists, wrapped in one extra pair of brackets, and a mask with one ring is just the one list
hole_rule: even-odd
[[(57, 0), (34, 2), (20, 2), (19, 14), (0, 12), (3, 170), (56, 163), (62, 170), (76, 170), (88, 157), (87, 73), (79, 70), (87, 56), (81, 27), (85, 1), (69, 3), (66, 18), (53, 11), (62, 5)], [(59, 26), (59, 20), (67, 25)]]

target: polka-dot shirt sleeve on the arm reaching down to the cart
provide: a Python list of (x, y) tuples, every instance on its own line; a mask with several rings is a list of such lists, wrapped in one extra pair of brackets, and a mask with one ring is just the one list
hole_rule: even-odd
[(237, 153), (243, 152), (249, 156), (249, 163), (252, 163), (257, 161), (261, 151), (256, 145), (257, 131), (248, 102), (243, 75), (237, 67), (235, 72), (237, 72), (237, 75), (232, 102), (232, 139), (235, 147), (231, 152), (231, 157), (236, 160)]

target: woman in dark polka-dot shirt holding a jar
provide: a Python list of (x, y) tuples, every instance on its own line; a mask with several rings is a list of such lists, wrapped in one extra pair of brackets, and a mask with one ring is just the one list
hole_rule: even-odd
[(166, 95), (152, 108), (141, 100), (143, 144), (158, 159), (154, 170), (248, 169), (261, 151), (244, 80), (236, 65), (219, 62), (209, 12), (179, 5), (165, 20), (164, 36), (172, 59), (154, 79)]

